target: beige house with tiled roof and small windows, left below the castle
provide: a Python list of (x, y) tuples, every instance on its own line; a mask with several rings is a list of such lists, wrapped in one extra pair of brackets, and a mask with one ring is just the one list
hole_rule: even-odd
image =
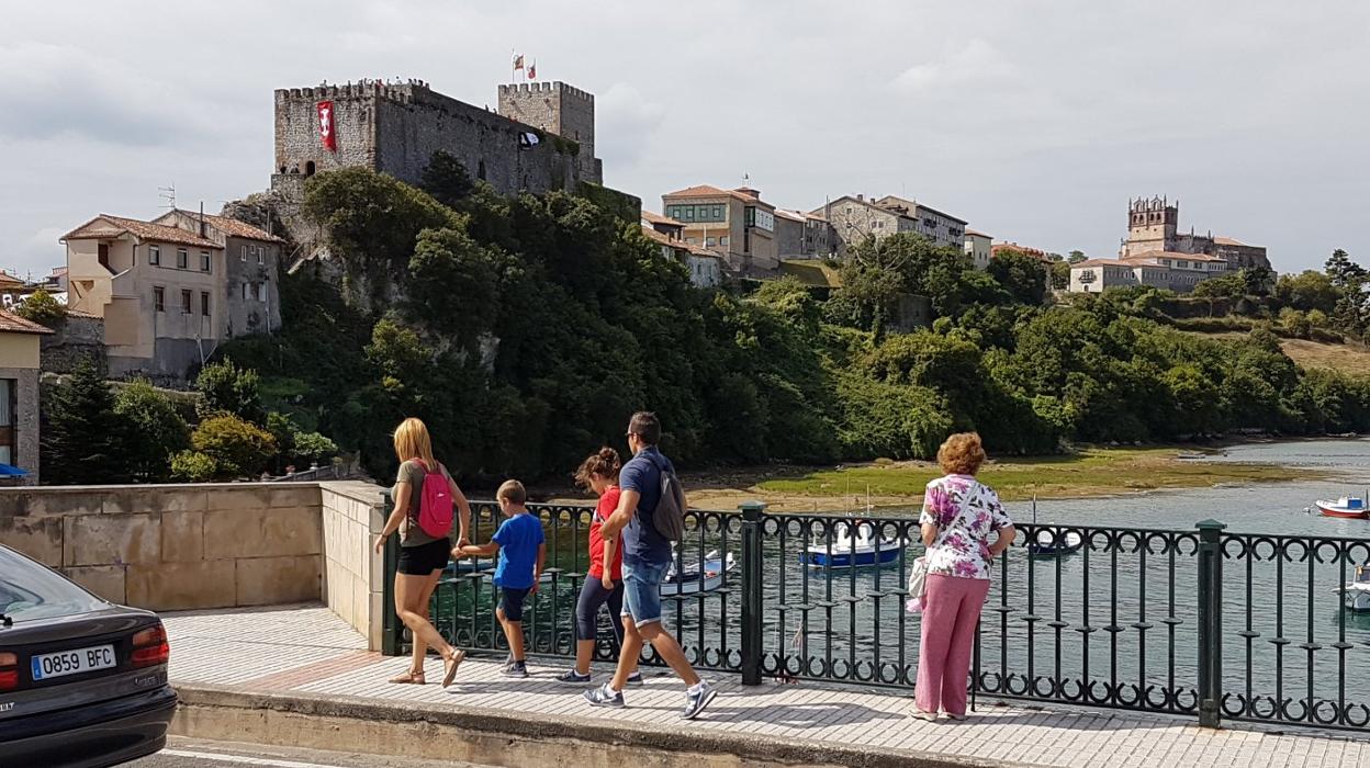
[(227, 338), (281, 324), (281, 240), (222, 216), (101, 214), (60, 240), (67, 307), (104, 320), (112, 376), (181, 383)]

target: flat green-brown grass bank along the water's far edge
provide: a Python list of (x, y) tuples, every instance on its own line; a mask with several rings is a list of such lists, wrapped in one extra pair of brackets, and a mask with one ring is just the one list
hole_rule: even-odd
[[(1222, 483), (1307, 479), (1306, 470), (1269, 464), (1180, 460), (1174, 448), (1089, 448), (1074, 456), (993, 461), (980, 479), (1004, 500), (1080, 498), (1136, 490), (1206, 487)], [(936, 465), (917, 463), (863, 464), (821, 470), (799, 476), (773, 478), (755, 487), (764, 497), (806, 496), (864, 498), (880, 502), (921, 498), (927, 481), (941, 476)]]

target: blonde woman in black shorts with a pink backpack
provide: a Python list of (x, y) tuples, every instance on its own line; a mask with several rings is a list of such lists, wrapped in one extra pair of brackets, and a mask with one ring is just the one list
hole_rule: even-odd
[(433, 459), (433, 441), (423, 422), (410, 418), (396, 427), (395, 456), (400, 460), (393, 491), (395, 511), (375, 539), (375, 552), (377, 554), (384, 552), (385, 539), (400, 531), (400, 561), (395, 571), (395, 611), (414, 635), (414, 656), (408, 672), (392, 678), (390, 682), (423, 684), (423, 658), (427, 649), (433, 648), (443, 656), (443, 687), (447, 687), (452, 684), (456, 668), (466, 653), (448, 645), (427, 619), (429, 600), (437, 589), (443, 568), (447, 568), (452, 542), (448, 537), (429, 535), (418, 524), (423, 479), (429, 472), (443, 472), (447, 476), (459, 513), (456, 546), (470, 543), (467, 531), (471, 526), (471, 505), (462, 494), (462, 489), (456, 487), (456, 481), (448, 474), (447, 467)]

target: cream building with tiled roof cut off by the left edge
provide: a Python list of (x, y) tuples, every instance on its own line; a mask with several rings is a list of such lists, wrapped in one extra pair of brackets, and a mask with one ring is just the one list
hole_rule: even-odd
[(40, 340), (48, 329), (0, 309), (0, 464), (38, 485)]

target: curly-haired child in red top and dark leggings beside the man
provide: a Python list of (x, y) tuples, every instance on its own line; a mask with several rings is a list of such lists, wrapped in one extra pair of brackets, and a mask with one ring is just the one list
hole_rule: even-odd
[[(590, 569), (581, 586), (581, 597), (575, 604), (575, 668), (558, 675), (563, 683), (582, 684), (590, 680), (590, 658), (595, 656), (595, 642), (599, 637), (599, 611), (608, 604), (614, 627), (614, 649), (623, 646), (623, 549), (618, 541), (606, 541), (600, 535), (604, 520), (618, 508), (618, 471), (622, 467), (618, 452), (601, 448), (599, 453), (581, 463), (575, 482), (599, 494), (595, 516), (590, 519)], [(636, 661), (636, 660), (634, 660)], [(643, 674), (633, 669), (629, 683), (641, 684)]]

